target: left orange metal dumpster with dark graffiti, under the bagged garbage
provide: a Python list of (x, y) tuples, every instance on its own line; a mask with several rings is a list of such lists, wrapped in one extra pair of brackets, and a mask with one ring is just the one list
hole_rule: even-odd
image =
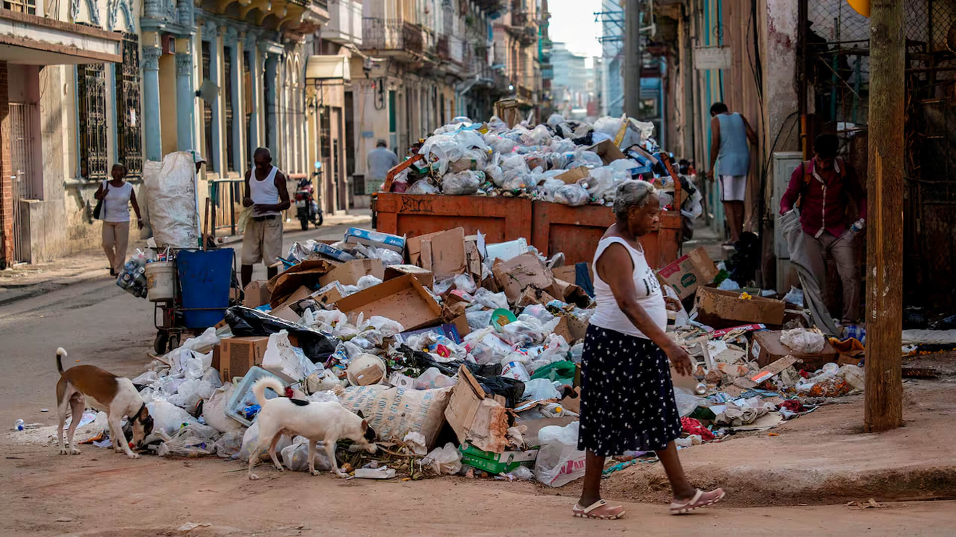
[(380, 192), (375, 201), (379, 231), (414, 237), (464, 227), (488, 243), (532, 236), (532, 201), (524, 198), (441, 196)]

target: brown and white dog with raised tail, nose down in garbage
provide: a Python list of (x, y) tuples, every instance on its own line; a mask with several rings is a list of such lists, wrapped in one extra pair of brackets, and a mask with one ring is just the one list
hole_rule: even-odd
[[(113, 449), (117, 453), (125, 452), (130, 459), (139, 459), (139, 454), (133, 453), (123, 435), (120, 419), (128, 416), (132, 421), (133, 442), (140, 446), (142, 440), (153, 432), (153, 418), (149, 416), (149, 409), (133, 382), (129, 378), (113, 375), (92, 365), (77, 365), (63, 371), (61, 360), (65, 357), (66, 351), (62, 347), (56, 349), (56, 371), (60, 374), (60, 379), (56, 382), (56, 414), (59, 418), (56, 435), (59, 439), (60, 455), (79, 455), (79, 448), (73, 443), (73, 434), (83, 417), (86, 397), (90, 397), (93, 399), (90, 406), (106, 412)], [(73, 421), (70, 422), (70, 430), (67, 433), (70, 442), (70, 450), (67, 451), (63, 444), (63, 423), (70, 409), (73, 410)]]

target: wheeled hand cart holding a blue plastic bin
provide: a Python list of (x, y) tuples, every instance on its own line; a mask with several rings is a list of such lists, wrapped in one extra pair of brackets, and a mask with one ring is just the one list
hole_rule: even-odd
[[(161, 251), (167, 251), (164, 247), (155, 247), (152, 249), (157, 251), (157, 253)], [(222, 306), (192, 306), (193, 303), (197, 302), (194, 300), (194, 298), (197, 298), (195, 294), (198, 292), (198, 290), (202, 290), (206, 293), (206, 295), (209, 295), (212, 293), (221, 294), (225, 289), (222, 285), (222, 278), (220, 278), (220, 281), (212, 282), (211, 285), (209, 282), (192, 281), (197, 278), (208, 279), (208, 271), (206, 271), (204, 274), (193, 274), (191, 271), (186, 272), (185, 277), (190, 281), (186, 282), (187, 285), (184, 286), (183, 270), (186, 268), (180, 267), (180, 254), (182, 252), (202, 252), (204, 254), (210, 254), (212, 252), (224, 252), (225, 250), (229, 250), (228, 255), (231, 257), (231, 263), (229, 264), (228, 269), (228, 290), (226, 290), (228, 299)], [(215, 312), (219, 311), (225, 314), (225, 311), (228, 309), (228, 307), (237, 304), (241, 299), (241, 288), (239, 286), (238, 280), (236, 280), (236, 259), (234, 249), (213, 248), (206, 250), (204, 248), (169, 248), (168, 251), (171, 255), (175, 255), (174, 261), (176, 263), (176, 270), (173, 272), (174, 282), (172, 300), (154, 303), (155, 308), (153, 310), (153, 324), (156, 327), (157, 332), (156, 339), (153, 342), (153, 349), (157, 354), (165, 354), (169, 351), (172, 351), (173, 349), (179, 347), (184, 339), (192, 335), (203, 333), (208, 327), (214, 326), (219, 321), (217, 320), (215, 322), (210, 322), (210, 318), (218, 318), (219, 320), (222, 320), (223, 318), (223, 315), (217, 314)], [(222, 254), (214, 255), (222, 256)], [(218, 276), (222, 275), (218, 274)], [(186, 294), (184, 294), (184, 288), (186, 289)], [(200, 300), (200, 302), (202, 302), (202, 300)]]

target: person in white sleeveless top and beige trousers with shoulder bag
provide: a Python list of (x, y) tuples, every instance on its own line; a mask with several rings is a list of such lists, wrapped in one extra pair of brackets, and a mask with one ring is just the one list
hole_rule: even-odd
[(110, 275), (116, 276), (126, 263), (129, 245), (129, 205), (136, 211), (136, 222), (142, 229), (140, 205), (136, 203), (133, 185), (126, 182), (126, 166), (113, 164), (110, 181), (99, 183), (94, 198), (102, 202), (99, 219), (103, 221), (103, 250), (110, 263)]

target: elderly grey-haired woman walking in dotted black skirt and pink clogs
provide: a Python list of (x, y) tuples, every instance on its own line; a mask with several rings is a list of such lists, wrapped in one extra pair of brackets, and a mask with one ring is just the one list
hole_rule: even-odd
[(584, 490), (573, 509), (577, 517), (624, 515), (623, 506), (601, 500), (600, 479), (604, 459), (625, 451), (657, 452), (674, 493), (671, 514), (724, 497), (720, 488), (704, 492), (687, 481), (674, 444), (681, 435), (681, 416), (670, 364), (679, 374), (690, 375), (690, 356), (664, 333), (666, 310), (677, 301), (663, 296), (639, 240), (657, 226), (659, 205), (650, 183), (621, 183), (614, 202), (617, 222), (597, 243), (597, 311), (584, 339), (581, 370), (577, 449), (586, 450), (587, 456)]

